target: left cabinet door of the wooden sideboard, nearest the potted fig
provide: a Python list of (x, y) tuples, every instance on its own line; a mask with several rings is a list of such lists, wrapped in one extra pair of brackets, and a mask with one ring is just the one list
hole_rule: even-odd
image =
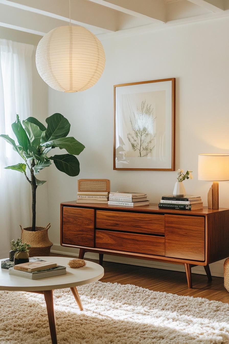
[(94, 209), (63, 207), (63, 244), (94, 247)]

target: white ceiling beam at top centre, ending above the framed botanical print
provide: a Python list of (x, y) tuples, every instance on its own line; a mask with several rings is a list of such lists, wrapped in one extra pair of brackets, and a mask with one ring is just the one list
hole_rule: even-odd
[(166, 22), (166, 4), (162, 0), (89, 0), (114, 10), (150, 20), (152, 23)]

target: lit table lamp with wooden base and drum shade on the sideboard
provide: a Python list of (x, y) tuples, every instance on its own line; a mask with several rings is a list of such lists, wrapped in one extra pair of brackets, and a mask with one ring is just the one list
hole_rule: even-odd
[(229, 154), (199, 154), (198, 180), (213, 182), (207, 195), (208, 208), (219, 209), (219, 181), (229, 180)]

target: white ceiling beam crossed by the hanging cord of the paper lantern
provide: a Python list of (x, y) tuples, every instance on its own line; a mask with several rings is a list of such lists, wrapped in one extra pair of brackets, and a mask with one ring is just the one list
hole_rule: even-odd
[[(67, 25), (69, 22), (69, 3), (67, 1), (0, 0), (0, 4), (58, 19), (65, 22), (63, 25)], [(71, 22), (83, 25), (89, 30), (91, 28), (92, 32), (94, 32), (93, 27), (102, 29), (104, 33), (114, 32), (117, 30), (117, 12), (106, 7), (101, 8), (98, 4), (92, 4), (85, 0), (71, 1)]]

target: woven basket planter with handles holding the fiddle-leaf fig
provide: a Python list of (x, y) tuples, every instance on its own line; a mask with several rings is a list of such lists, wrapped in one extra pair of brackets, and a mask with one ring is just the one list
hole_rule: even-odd
[(48, 238), (48, 229), (50, 228), (50, 223), (47, 227), (36, 227), (35, 232), (32, 231), (32, 227), (21, 227), (21, 239), (22, 243), (30, 244), (29, 248), (30, 257), (34, 256), (49, 256), (50, 248), (53, 243)]

